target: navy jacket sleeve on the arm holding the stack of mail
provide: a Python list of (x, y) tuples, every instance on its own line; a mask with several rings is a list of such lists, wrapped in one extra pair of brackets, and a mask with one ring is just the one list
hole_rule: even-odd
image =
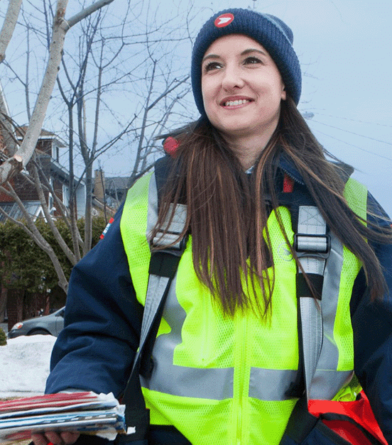
[(67, 388), (119, 397), (138, 348), (136, 300), (120, 233), (122, 208), (107, 234), (72, 270), (65, 328), (50, 361), (46, 393)]

